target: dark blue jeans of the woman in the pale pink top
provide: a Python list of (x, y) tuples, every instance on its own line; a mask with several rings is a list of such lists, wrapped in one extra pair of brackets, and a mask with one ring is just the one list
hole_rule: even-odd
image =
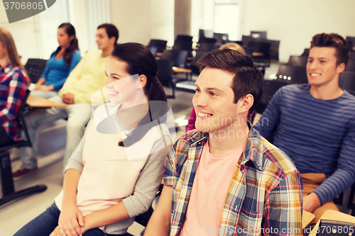
[[(48, 236), (58, 226), (60, 210), (52, 204), (45, 212), (31, 220), (27, 225), (23, 226), (13, 236)], [(83, 236), (107, 236), (104, 231), (98, 227), (84, 232)]]

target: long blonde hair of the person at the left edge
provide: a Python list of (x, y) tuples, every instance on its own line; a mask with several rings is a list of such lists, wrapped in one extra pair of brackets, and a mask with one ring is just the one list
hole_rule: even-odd
[(13, 67), (20, 67), (26, 72), (25, 67), (21, 64), (20, 56), (18, 56), (15, 42), (9, 30), (0, 28), (0, 43), (6, 50), (6, 60)]

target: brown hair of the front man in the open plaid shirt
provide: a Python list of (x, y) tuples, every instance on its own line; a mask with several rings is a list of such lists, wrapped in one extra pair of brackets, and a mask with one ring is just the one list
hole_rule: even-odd
[(263, 74), (256, 67), (251, 56), (231, 49), (214, 50), (201, 57), (197, 65), (200, 67), (200, 72), (208, 67), (223, 69), (234, 74), (231, 84), (231, 89), (234, 91), (234, 103), (247, 94), (251, 94), (254, 102), (249, 109), (249, 114), (254, 111), (263, 94)]

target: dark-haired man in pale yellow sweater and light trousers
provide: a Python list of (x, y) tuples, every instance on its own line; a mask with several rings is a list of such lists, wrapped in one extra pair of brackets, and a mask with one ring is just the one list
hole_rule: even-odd
[(26, 116), (28, 133), (31, 137), (33, 147), (21, 149), (22, 165), (13, 173), (17, 179), (31, 172), (37, 167), (37, 132), (40, 125), (67, 118), (67, 145), (65, 147), (65, 158), (67, 159), (79, 145), (84, 128), (92, 114), (91, 97), (94, 91), (104, 86), (106, 82), (106, 61), (114, 50), (119, 38), (119, 30), (116, 26), (105, 23), (97, 28), (96, 43), (99, 50), (92, 50), (82, 58), (77, 66), (70, 72), (58, 96), (50, 98), (51, 101), (67, 103), (65, 108), (53, 107), (48, 109), (36, 109)]

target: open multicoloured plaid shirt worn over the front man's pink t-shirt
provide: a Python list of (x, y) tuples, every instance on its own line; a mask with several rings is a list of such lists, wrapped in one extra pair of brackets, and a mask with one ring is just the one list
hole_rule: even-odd
[[(302, 235), (302, 179), (290, 158), (249, 123), (240, 170), (226, 196), (220, 235)], [(173, 186), (170, 235), (185, 220), (207, 133), (180, 137), (165, 160), (164, 184)]]

